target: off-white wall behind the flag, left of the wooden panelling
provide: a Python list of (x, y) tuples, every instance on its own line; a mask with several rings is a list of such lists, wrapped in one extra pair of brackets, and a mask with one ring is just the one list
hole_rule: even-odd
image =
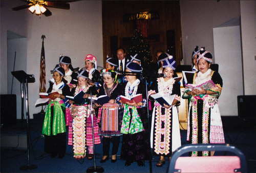
[[(31, 14), (28, 9), (12, 11), (11, 8), (16, 7), (12, 4), (13, 2), (4, 1), (3, 3), (5, 6), (2, 6), (1, 1), (1, 52), (5, 51), (5, 47), (7, 47), (5, 43), (7, 39), (4, 36), (2, 37), (2, 33), (11, 30), (9, 28), (21, 25), (20, 23), (25, 25), (24, 28), (26, 28), (25, 34), (21, 34), (27, 37), (27, 69), (24, 71), (28, 74), (34, 74), (36, 80), (35, 83), (29, 84), (30, 117), (41, 110), (41, 107), (35, 107), (34, 103), (39, 98), (39, 65), (42, 34), (46, 36), (44, 45), (47, 81), (52, 77), (50, 71), (58, 63), (59, 54), (71, 57), (74, 68), (84, 67), (84, 57), (87, 54), (95, 55), (99, 66), (103, 66), (101, 1), (72, 2), (70, 3), (70, 10), (49, 8), (52, 12), (52, 16), (49, 17), (44, 15), (39, 17)], [(2, 9), (6, 11), (6, 14), (2, 13)], [(16, 17), (22, 14), (25, 14), (25, 18), (20, 21), (17, 20)], [(2, 23), (2, 18), (6, 23)], [(12, 19), (14, 19), (15, 23), (12, 26), (6, 26), (3, 31), (2, 24), (6, 25)], [(23, 28), (20, 27), (19, 29)], [(3, 59), (1, 54), (1, 80), (3, 79)], [(5, 73), (7, 70), (3, 71)], [(49, 87), (48, 82), (47, 87)], [(7, 86), (1, 84), (1, 94), (6, 94), (6, 92)]]

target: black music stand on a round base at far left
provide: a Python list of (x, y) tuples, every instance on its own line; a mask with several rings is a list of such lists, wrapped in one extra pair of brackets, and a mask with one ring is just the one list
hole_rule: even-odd
[[(23, 70), (20, 71), (13, 71), (11, 72), (12, 75), (20, 82), (22, 83), (22, 121), (24, 117), (24, 92), (26, 97), (26, 118), (27, 118), (27, 158), (28, 158), (28, 164), (20, 167), (20, 170), (28, 170), (28, 169), (35, 169), (37, 168), (37, 165), (31, 165), (29, 164), (29, 109), (28, 109), (28, 83), (35, 82), (34, 75), (28, 75)], [(22, 122), (23, 124), (23, 122)]]

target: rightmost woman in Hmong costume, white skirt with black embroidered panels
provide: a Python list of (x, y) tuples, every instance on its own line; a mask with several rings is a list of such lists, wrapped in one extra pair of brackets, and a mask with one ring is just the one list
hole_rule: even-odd
[[(225, 143), (218, 97), (222, 90), (222, 78), (218, 72), (210, 69), (212, 55), (203, 48), (197, 55), (199, 72), (194, 74), (194, 87), (186, 90), (182, 98), (190, 98), (187, 122), (187, 140), (189, 143)], [(201, 90), (195, 87), (200, 87)], [(191, 156), (208, 156), (208, 151), (192, 152)], [(210, 152), (214, 155), (214, 152)]]

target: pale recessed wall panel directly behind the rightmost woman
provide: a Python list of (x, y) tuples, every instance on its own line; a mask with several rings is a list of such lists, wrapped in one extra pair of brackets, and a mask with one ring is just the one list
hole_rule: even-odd
[(243, 95), (240, 27), (214, 28), (214, 49), (215, 63), (219, 64), (223, 80), (220, 113), (222, 116), (237, 116), (237, 96)]

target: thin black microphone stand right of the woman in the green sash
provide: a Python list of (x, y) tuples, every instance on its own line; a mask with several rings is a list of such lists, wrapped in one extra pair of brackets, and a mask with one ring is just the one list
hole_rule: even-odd
[[(146, 111), (147, 111), (147, 126), (148, 126), (148, 150), (150, 154), (150, 173), (152, 173), (152, 153), (151, 153), (151, 143), (150, 143), (150, 132), (151, 132), (151, 125), (150, 125), (150, 111), (148, 110), (148, 93), (147, 93), (147, 79), (143, 77), (143, 73), (141, 73), (142, 81), (145, 79), (146, 85)], [(143, 88), (143, 82), (142, 82)]]

